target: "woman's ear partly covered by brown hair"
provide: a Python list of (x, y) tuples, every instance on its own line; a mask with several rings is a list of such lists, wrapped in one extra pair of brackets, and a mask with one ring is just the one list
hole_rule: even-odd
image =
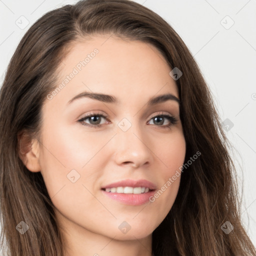
[(35, 138), (31, 138), (26, 132), (17, 135), (18, 139), (18, 156), (32, 172), (41, 170), (39, 164), (39, 142)]

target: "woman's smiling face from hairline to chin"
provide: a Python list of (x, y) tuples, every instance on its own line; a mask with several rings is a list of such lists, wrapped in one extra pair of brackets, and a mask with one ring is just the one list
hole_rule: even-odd
[(38, 162), (62, 226), (148, 236), (175, 200), (185, 157), (171, 69), (154, 46), (109, 35), (74, 43), (59, 67)]

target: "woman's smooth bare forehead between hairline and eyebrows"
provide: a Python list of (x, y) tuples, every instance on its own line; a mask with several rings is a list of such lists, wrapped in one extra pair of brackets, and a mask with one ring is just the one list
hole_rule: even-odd
[(69, 101), (83, 91), (116, 95), (120, 100), (148, 100), (170, 92), (178, 97), (171, 68), (159, 50), (139, 40), (97, 35), (73, 42), (59, 64), (54, 98)]

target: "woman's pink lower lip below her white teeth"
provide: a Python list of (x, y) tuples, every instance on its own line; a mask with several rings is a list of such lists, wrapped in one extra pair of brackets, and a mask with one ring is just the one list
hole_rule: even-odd
[(154, 190), (141, 194), (125, 194), (125, 193), (112, 193), (102, 190), (102, 193), (107, 195), (113, 200), (122, 202), (128, 205), (141, 205), (149, 201), (149, 197), (154, 194)]

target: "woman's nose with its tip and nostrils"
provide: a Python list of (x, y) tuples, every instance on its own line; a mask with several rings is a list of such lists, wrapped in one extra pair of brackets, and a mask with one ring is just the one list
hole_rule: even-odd
[(146, 134), (142, 134), (139, 125), (133, 123), (126, 131), (118, 127), (114, 146), (114, 158), (118, 165), (131, 165), (137, 168), (152, 162), (152, 145)]

